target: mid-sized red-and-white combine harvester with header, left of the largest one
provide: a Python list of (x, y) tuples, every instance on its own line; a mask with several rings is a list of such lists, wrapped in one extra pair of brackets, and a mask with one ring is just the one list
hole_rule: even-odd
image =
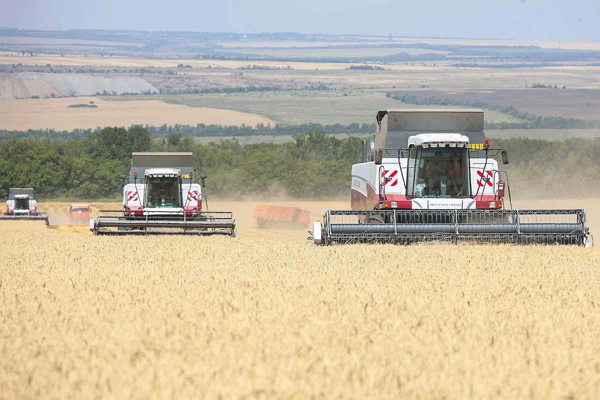
[(90, 230), (96, 235), (236, 236), (233, 213), (202, 210), (206, 175), (194, 177), (193, 160), (192, 153), (133, 153), (129, 177), (119, 177), (123, 210), (98, 211), (97, 219), (89, 220)]

